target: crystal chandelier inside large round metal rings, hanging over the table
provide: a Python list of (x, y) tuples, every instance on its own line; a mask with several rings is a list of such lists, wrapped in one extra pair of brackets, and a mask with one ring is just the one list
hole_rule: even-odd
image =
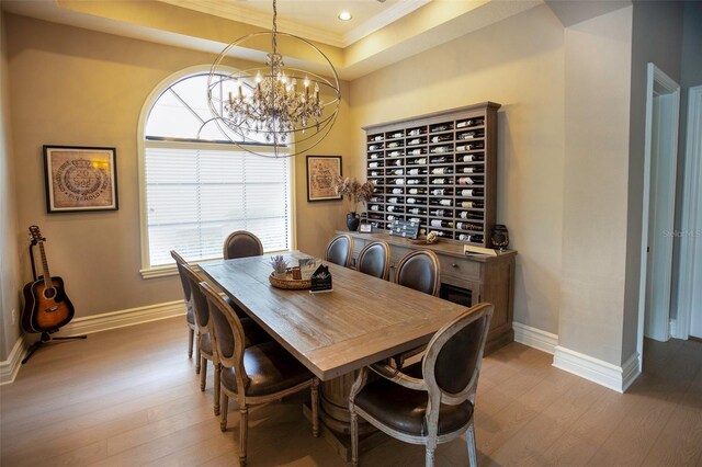
[[(210, 70), (207, 102), (213, 121), (231, 143), (247, 152), (288, 157), (308, 151), (329, 133), (339, 113), (339, 77), (327, 56), (309, 41), (279, 33), (276, 0), (273, 29), (246, 35), (229, 44)], [(231, 71), (224, 62), (235, 47), (270, 36), (265, 64)], [(310, 47), (324, 71), (285, 66), (279, 37), (290, 46)], [(271, 151), (272, 149), (272, 151)]]

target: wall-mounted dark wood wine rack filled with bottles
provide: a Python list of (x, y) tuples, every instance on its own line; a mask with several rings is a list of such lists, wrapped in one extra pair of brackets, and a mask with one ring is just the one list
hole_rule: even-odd
[(499, 107), (485, 102), (364, 127), (375, 184), (369, 221), (389, 229), (395, 219), (416, 220), (422, 234), (490, 247)]

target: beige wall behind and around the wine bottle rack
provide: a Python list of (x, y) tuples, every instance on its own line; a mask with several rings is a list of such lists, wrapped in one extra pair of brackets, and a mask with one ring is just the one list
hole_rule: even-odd
[(497, 220), (519, 250), (514, 320), (556, 333), (563, 219), (563, 26), (546, 5), (351, 83), (355, 174), (362, 126), (483, 101), (498, 117)]

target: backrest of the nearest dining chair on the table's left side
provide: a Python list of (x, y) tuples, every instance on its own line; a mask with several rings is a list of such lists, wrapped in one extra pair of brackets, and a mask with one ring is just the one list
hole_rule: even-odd
[[(240, 383), (244, 384), (248, 380), (248, 376), (244, 367), (246, 335), (241, 321), (231, 310), (231, 307), (210, 284), (201, 282), (197, 289), (205, 298), (208, 308), (212, 328), (216, 335), (215, 345), (217, 346), (219, 363), (227, 368), (234, 368), (237, 383), (241, 378)], [(246, 386), (239, 386), (239, 388), (244, 387)]]

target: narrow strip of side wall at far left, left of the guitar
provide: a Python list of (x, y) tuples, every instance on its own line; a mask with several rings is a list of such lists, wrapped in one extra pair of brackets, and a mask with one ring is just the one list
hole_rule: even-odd
[[(0, 361), (8, 358), (20, 337), (20, 271), (18, 262), (16, 210), (12, 141), (10, 139), (10, 93), (4, 18), (0, 15)], [(12, 323), (12, 310), (15, 322)]]

